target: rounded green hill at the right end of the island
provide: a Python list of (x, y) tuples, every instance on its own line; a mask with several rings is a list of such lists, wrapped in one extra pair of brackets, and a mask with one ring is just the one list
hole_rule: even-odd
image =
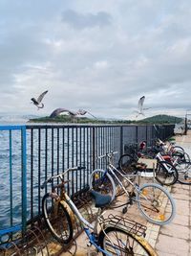
[(137, 124), (180, 124), (183, 119), (176, 116), (156, 115), (136, 121)]

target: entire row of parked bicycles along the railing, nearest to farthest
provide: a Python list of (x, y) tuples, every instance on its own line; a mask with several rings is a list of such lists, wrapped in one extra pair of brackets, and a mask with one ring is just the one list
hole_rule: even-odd
[[(55, 240), (61, 244), (70, 243), (76, 218), (88, 237), (89, 245), (94, 245), (103, 255), (157, 255), (144, 239), (144, 225), (132, 221), (126, 215), (124, 218), (114, 215), (105, 218), (103, 212), (108, 208), (122, 207), (122, 213), (125, 214), (129, 205), (137, 203), (140, 214), (147, 221), (159, 225), (170, 223), (176, 214), (175, 201), (161, 185), (172, 185), (177, 180), (189, 183), (189, 155), (182, 148), (166, 145), (159, 140), (152, 148), (142, 142), (139, 149), (131, 145), (128, 150), (128, 153), (120, 156), (118, 167), (114, 165), (115, 151), (97, 157), (104, 159), (107, 167), (105, 170), (95, 170), (90, 177), (90, 195), (97, 208), (94, 225), (84, 219), (65, 189), (65, 184), (70, 182), (67, 174), (85, 167), (70, 168), (43, 183), (41, 188), (52, 183), (52, 191), (42, 199), (42, 212)], [(157, 166), (148, 170), (143, 159), (155, 159)], [(140, 185), (141, 174), (149, 172), (154, 172), (160, 184), (149, 182)], [(58, 179), (61, 182), (54, 185), (53, 180)], [(122, 194), (126, 200), (117, 204), (117, 198)], [(168, 211), (165, 211), (167, 204)]]

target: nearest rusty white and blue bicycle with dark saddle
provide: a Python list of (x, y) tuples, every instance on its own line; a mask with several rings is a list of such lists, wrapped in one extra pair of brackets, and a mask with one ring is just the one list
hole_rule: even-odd
[[(67, 169), (59, 175), (51, 176), (41, 186), (43, 189), (47, 183), (53, 183), (53, 179), (59, 178), (61, 180), (61, 183), (53, 186), (52, 192), (45, 194), (42, 198), (44, 220), (53, 237), (59, 243), (70, 243), (73, 239), (74, 229), (74, 221), (72, 220), (76, 217), (89, 239), (88, 248), (93, 244), (96, 247), (97, 253), (101, 252), (106, 256), (157, 256), (158, 254), (152, 246), (143, 238), (146, 231), (144, 225), (113, 215), (106, 219), (104, 218), (104, 209), (111, 202), (110, 196), (98, 194), (96, 191), (90, 191), (92, 197), (95, 199), (96, 208), (98, 208), (95, 225), (83, 218), (65, 190), (65, 184), (69, 180), (65, 180), (64, 178), (64, 175), (68, 172), (81, 169), (81, 167)], [(56, 191), (57, 189), (60, 190), (59, 194)], [(49, 201), (52, 202), (50, 207), (48, 207)], [(98, 226), (100, 227), (99, 232), (97, 231)]]

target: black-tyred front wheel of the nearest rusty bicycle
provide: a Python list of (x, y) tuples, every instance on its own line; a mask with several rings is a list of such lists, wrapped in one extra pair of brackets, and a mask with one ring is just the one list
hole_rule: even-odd
[(61, 244), (68, 244), (73, 239), (73, 224), (62, 203), (47, 193), (42, 198), (42, 213), (54, 239)]

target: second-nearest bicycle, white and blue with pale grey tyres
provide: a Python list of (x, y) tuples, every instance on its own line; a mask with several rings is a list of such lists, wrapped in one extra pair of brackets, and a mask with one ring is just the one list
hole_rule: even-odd
[[(102, 194), (110, 193), (112, 200), (114, 201), (117, 193), (117, 186), (119, 186), (128, 199), (126, 203), (120, 205), (125, 206), (123, 208), (123, 213), (127, 212), (128, 205), (137, 202), (140, 213), (147, 221), (159, 225), (167, 224), (172, 221), (175, 217), (176, 207), (174, 199), (169, 192), (156, 183), (147, 183), (141, 186), (139, 186), (138, 183), (134, 184), (130, 177), (137, 176), (140, 174), (140, 171), (143, 171), (141, 170), (141, 165), (138, 170), (132, 168), (128, 175), (122, 174), (111, 161), (115, 153), (117, 152), (110, 152), (97, 157), (98, 159), (107, 159), (107, 168), (106, 170), (97, 169), (91, 174), (90, 188)], [(118, 176), (132, 187), (131, 191), (126, 189)], [(168, 212), (165, 212), (167, 203), (169, 205)]]

